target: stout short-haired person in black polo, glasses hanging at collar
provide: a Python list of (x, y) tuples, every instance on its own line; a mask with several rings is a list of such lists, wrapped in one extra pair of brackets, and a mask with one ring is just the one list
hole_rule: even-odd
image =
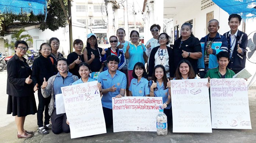
[(181, 36), (174, 41), (174, 68), (177, 69), (179, 61), (188, 60), (194, 72), (197, 73), (197, 62), (202, 57), (199, 39), (192, 34), (192, 25), (184, 23), (181, 26)]

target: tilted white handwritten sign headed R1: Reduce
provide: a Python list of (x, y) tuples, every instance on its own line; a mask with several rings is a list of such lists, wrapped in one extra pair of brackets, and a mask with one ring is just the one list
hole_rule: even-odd
[(97, 81), (61, 87), (71, 139), (106, 133)]

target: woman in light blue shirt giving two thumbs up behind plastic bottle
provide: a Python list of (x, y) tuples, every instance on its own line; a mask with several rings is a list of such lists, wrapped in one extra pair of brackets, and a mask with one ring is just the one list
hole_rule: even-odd
[(150, 96), (162, 97), (164, 113), (167, 115), (167, 121), (170, 125), (172, 119), (171, 111), (171, 82), (166, 77), (166, 70), (164, 66), (157, 65), (154, 67), (152, 80), (149, 82)]

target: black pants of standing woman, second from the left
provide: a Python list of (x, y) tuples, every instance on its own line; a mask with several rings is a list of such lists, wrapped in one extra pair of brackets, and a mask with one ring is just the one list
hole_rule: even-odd
[(38, 127), (43, 126), (43, 111), (45, 111), (45, 125), (49, 124), (50, 121), (50, 115), (48, 114), (49, 110), (49, 103), (51, 100), (51, 96), (48, 98), (44, 98), (42, 93), (41, 93), (41, 88), (38, 89), (38, 113), (37, 113), (37, 118), (38, 118)]

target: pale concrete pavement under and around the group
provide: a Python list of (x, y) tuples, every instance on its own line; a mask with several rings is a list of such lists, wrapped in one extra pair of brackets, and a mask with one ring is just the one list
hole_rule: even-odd
[[(6, 114), (7, 72), (0, 72), (0, 143), (255, 143), (256, 142), (256, 88), (248, 91), (250, 118), (252, 129), (213, 129), (213, 133), (173, 133), (168, 129), (167, 136), (157, 136), (156, 132), (118, 132), (107, 129), (107, 133), (93, 137), (70, 139), (70, 133), (55, 135), (50, 131), (48, 135), (39, 135), (37, 132), (36, 115), (28, 115), (25, 120), (25, 129), (34, 131), (35, 136), (29, 139), (17, 139), (17, 127), (14, 117)], [(35, 94), (36, 100), (37, 95)]]

